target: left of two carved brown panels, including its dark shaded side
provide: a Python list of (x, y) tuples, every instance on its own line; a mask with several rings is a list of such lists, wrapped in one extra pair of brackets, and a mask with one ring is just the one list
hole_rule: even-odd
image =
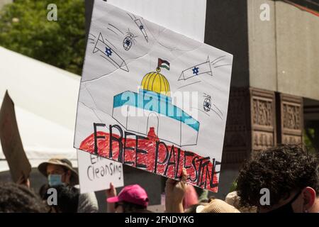
[(223, 163), (242, 163), (276, 143), (274, 92), (231, 88)]

